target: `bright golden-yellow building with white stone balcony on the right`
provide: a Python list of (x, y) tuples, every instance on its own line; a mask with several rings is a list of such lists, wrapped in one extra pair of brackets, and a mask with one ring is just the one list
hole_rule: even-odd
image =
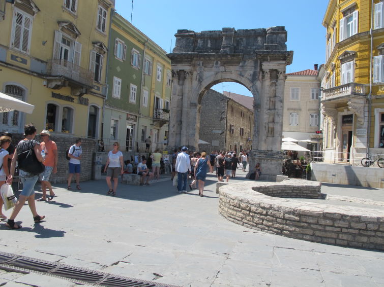
[(357, 164), (384, 148), (384, 3), (330, 0), (322, 24), (324, 157)]

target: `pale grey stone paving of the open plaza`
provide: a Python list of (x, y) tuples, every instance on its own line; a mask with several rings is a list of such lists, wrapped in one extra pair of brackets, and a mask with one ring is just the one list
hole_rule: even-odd
[[(238, 170), (238, 175), (230, 182), (241, 184), (245, 173)], [(105, 195), (104, 181), (82, 183), (81, 192), (60, 185), (52, 202), (37, 202), (45, 222), (34, 225), (24, 206), (16, 219), (23, 229), (0, 225), (0, 251), (181, 286), (384, 285), (384, 253), (291, 239), (229, 222), (218, 213), (215, 178), (207, 180), (206, 197), (196, 190), (179, 194), (168, 179), (152, 186), (120, 185), (116, 197)], [(334, 204), (384, 206), (382, 189), (323, 184), (321, 192)], [(25, 284), (77, 285), (0, 270), (0, 285)]]

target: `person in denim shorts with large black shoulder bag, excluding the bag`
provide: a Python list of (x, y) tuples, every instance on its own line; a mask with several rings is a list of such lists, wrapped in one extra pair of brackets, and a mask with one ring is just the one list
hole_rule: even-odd
[[(13, 175), (15, 174), (16, 162), (18, 156), (25, 151), (33, 150), (38, 161), (43, 162), (44, 159), (40, 153), (40, 142), (35, 140), (36, 136), (36, 127), (31, 123), (24, 126), (24, 135), (25, 138), (20, 140), (17, 144), (15, 153), (12, 158), (11, 163), (11, 173), (7, 178), (7, 184), (12, 185)], [(21, 225), (15, 224), (15, 218), (23, 207), (25, 201), (28, 201), (29, 209), (31, 209), (32, 215), (34, 217), (34, 222), (42, 221), (45, 216), (39, 216), (36, 211), (35, 204), (35, 184), (39, 178), (38, 175), (19, 170), (19, 177), (23, 184), (23, 190), (20, 193), (19, 200), (17, 200), (15, 207), (12, 210), (11, 216), (9, 217), (6, 226), (10, 229), (21, 228)]]

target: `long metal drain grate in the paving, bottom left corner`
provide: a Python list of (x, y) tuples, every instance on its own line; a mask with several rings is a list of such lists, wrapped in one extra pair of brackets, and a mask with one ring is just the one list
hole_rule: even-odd
[(74, 283), (106, 287), (180, 287), (139, 280), (61, 263), (0, 252), (0, 268), (22, 273), (39, 273)]

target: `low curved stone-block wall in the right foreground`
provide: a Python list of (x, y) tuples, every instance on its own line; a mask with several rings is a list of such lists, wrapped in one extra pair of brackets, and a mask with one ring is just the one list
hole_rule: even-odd
[(308, 182), (243, 182), (222, 186), (219, 213), (234, 223), (286, 237), (384, 250), (382, 210), (297, 201), (257, 192), (282, 185), (300, 189), (308, 186)]

